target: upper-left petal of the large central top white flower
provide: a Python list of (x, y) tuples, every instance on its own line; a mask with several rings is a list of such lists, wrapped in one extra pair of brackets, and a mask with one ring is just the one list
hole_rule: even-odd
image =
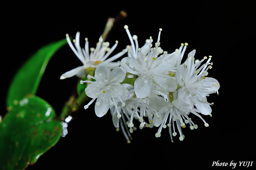
[[(129, 64), (129, 66), (127, 64)], [(140, 75), (141, 66), (138, 65), (138, 62), (132, 57), (124, 57), (121, 60), (121, 66), (129, 73)], [(133, 67), (136, 69), (135, 71), (132, 69)]]

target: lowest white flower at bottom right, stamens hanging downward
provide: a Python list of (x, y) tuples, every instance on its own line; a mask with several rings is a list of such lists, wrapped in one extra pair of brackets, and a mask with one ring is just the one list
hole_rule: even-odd
[[(173, 97), (171, 99), (172, 101), (170, 100), (171, 97)], [(155, 133), (155, 137), (157, 138), (161, 136), (162, 128), (166, 128), (168, 126), (171, 142), (173, 142), (173, 136), (176, 136), (177, 132), (180, 136), (179, 140), (182, 141), (185, 138), (184, 134), (182, 134), (182, 128), (186, 127), (185, 124), (189, 124), (191, 130), (198, 128), (198, 125), (194, 124), (194, 122), (191, 121), (191, 118), (188, 117), (190, 112), (204, 121), (204, 119), (196, 113), (198, 110), (193, 108), (193, 105), (187, 105), (182, 100), (178, 99), (177, 91), (170, 93), (168, 98), (163, 97), (162, 95), (155, 95), (151, 97), (151, 105), (156, 109), (153, 124), (156, 127), (159, 127), (157, 133)], [(204, 125), (206, 127), (209, 126), (205, 121)], [(177, 127), (177, 132), (175, 127)]]

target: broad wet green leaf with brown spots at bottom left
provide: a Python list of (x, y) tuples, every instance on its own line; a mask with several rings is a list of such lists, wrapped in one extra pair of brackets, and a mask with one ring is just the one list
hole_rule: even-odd
[(0, 123), (1, 169), (24, 169), (55, 145), (62, 126), (54, 117), (53, 108), (40, 97), (20, 100)]

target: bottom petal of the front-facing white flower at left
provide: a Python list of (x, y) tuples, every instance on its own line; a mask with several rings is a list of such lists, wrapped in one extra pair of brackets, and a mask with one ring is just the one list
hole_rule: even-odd
[(99, 102), (99, 105), (95, 104), (95, 113), (98, 117), (102, 117), (107, 113), (108, 109), (110, 108), (110, 104), (109, 104), (110, 100), (104, 99), (103, 97), (98, 97), (96, 100), (96, 103), (98, 102)]

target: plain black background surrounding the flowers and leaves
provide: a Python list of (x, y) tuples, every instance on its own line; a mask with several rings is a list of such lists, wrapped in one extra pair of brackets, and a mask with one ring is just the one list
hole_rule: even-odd
[[(232, 160), (255, 161), (255, 109), (251, 104), (254, 99), (250, 98), (254, 93), (255, 12), (251, 7), (244, 1), (6, 5), (8, 10), (1, 17), (1, 115), (7, 112), (9, 83), (31, 54), (41, 46), (64, 39), (66, 33), (74, 37), (77, 31), (81, 33), (81, 46), (88, 37), (89, 46), (95, 47), (108, 17), (115, 17), (121, 10), (127, 12), (127, 17), (117, 22), (107, 37), (110, 46), (119, 41), (113, 54), (130, 44), (124, 25), (138, 36), (140, 46), (149, 36), (157, 40), (162, 28), (162, 49), (171, 53), (180, 43), (187, 42), (185, 56), (193, 49), (196, 59), (213, 56), (209, 77), (220, 82), (219, 95), (207, 98), (214, 102), (212, 117), (203, 116), (209, 127), (192, 115), (198, 129), (183, 129), (184, 141), (174, 137), (171, 143), (167, 129), (163, 129), (160, 138), (155, 138), (157, 128), (144, 128), (135, 131), (131, 144), (127, 144), (122, 132), (115, 131), (110, 113), (99, 118), (91, 105), (90, 110), (80, 109), (68, 125), (68, 135), (27, 169), (208, 169), (218, 160), (228, 164)], [(57, 114), (78, 80), (59, 77), (80, 65), (68, 45), (47, 65), (37, 95), (47, 100)]]

